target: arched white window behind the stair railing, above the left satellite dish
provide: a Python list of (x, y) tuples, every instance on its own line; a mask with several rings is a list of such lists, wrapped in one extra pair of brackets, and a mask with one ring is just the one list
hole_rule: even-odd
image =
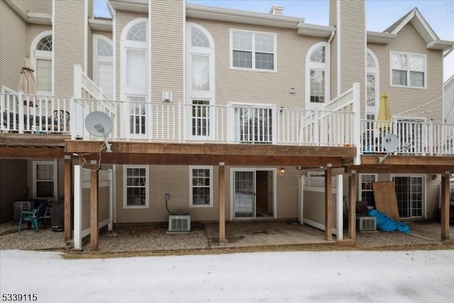
[(112, 40), (104, 35), (93, 35), (93, 81), (114, 99), (114, 48)]

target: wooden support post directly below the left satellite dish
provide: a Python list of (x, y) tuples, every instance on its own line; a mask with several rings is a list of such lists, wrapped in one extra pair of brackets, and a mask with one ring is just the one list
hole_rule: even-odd
[(99, 219), (98, 219), (98, 180), (99, 170), (96, 160), (90, 162), (92, 170), (90, 183), (90, 249), (99, 250)]

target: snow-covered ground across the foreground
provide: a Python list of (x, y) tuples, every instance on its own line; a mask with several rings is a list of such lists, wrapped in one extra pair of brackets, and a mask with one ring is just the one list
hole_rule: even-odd
[(2, 296), (35, 293), (49, 303), (454, 302), (454, 250), (90, 260), (1, 250), (0, 272)]

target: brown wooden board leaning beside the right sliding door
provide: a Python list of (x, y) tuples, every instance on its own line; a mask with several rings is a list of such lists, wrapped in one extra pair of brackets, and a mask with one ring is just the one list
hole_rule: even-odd
[(373, 182), (372, 189), (374, 189), (375, 209), (394, 219), (394, 221), (399, 221), (394, 182)]

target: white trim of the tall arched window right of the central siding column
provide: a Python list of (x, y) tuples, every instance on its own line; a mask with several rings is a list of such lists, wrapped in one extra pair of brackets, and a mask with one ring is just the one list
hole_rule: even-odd
[[(192, 46), (192, 28), (196, 28), (197, 30), (204, 33), (206, 38), (209, 41), (209, 48), (202, 48), (197, 46)], [(187, 76), (186, 76), (186, 98), (185, 101), (187, 104), (187, 127), (184, 128), (184, 138), (188, 140), (203, 140), (203, 141), (212, 141), (214, 140), (215, 136), (215, 126), (216, 126), (216, 114), (214, 112), (215, 105), (216, 105), (216, 77), (215, 77), (215, 60), (216, 60), (216, 53), (215, 53), (215, 46), (213, 37), (209, 31), (206, 30), (203, 26), (200, 26), (197, 23), (187, 22), (186, 23), (186, 48), (187, 48)], [(208, 92), (203, 91), (196, 91), (192, 89), (192, 55), (206, 55), (209, 56), (209, 65), (210, 65), (210, 77), (209, 83), (210, 88)], [(209, 101), (210, 103), (210, 135), (209, 136), (192, 136), (192, 101), (193, 100), (204, 100)]]

